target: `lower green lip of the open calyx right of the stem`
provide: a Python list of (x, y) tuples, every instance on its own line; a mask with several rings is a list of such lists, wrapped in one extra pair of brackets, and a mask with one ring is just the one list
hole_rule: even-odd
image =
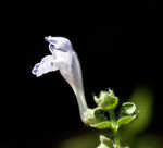
[(122, 125), (127, 125), (130, 122), (133, 122), (136, 119), (137, 115), (127, 115), (127, 116), (122, 116), (118, 119), (117, 121), (117, 125), (118, 127), (121, 127)]

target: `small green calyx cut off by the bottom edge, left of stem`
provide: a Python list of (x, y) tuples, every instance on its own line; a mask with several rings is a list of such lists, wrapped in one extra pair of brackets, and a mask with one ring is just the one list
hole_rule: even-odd
[(113, 148), (113, 141), (110, 138), (100, 135), (100, 141), (101, 144), (98, 146), (98, 148)]

